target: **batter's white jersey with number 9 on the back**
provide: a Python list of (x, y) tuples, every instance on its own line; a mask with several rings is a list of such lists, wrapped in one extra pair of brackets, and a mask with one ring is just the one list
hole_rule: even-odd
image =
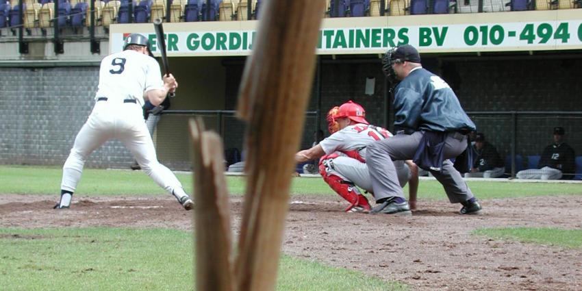
[(95, 99), (136, 99), (143, 106), (144, 92), (163, 88), (164, 81), (157, 61), (149, 55), (128, 49), (101, 60)]

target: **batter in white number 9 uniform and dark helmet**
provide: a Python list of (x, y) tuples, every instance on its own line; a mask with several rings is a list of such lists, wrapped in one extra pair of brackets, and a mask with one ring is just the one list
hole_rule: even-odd
[(95, 105), (64, 163), (61, 198), (55, 208), (71, 206), (87, 157), (107, 140), (116, 138), (125, 144), (157, 185), (173, 194), (184, 209), (191, 210), (194, 203), (180, 181), (157, 161), (142, 112), (144, 98), (157, 106), (177, 87), (173, 75), (165, 75), (162, 79), (160, 66), (151, 57), (149, 42), (141, 34), (129, 35), (123, 51), (103, 58)]

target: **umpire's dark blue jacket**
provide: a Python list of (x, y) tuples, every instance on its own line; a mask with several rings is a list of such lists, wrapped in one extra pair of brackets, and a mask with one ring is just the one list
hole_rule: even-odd
[(414, 68), (394, 90), (394, 126), (427, 131), (475, 131), (455, 92), (437, 75)]

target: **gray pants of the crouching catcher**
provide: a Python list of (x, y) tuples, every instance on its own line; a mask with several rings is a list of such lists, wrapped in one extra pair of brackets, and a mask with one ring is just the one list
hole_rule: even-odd
[[(368, 192), (372, 191), (372, 179), (370, 179), (370, 172), (366, 163), (358, 160), (339, 156), (333, 159), (324, 161), (327, 175), (337, 175), (345, 181), (352, 182), (355, 186), (362, 188)], [(410, 179), (410, 169), (404, 161), (395, 161), (394, 168), (398, 183), (400, 187), (404, 187)]]

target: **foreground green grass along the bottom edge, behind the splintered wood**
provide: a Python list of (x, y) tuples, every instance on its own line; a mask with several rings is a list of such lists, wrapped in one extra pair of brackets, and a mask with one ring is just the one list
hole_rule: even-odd
[[(179, 247), (177, 247), (179, 246)], [(0, 290), (193, 290), (192, 236), (173, 229), (0, 229)], [(277, 290), (406, 290), (283, 256)]]

